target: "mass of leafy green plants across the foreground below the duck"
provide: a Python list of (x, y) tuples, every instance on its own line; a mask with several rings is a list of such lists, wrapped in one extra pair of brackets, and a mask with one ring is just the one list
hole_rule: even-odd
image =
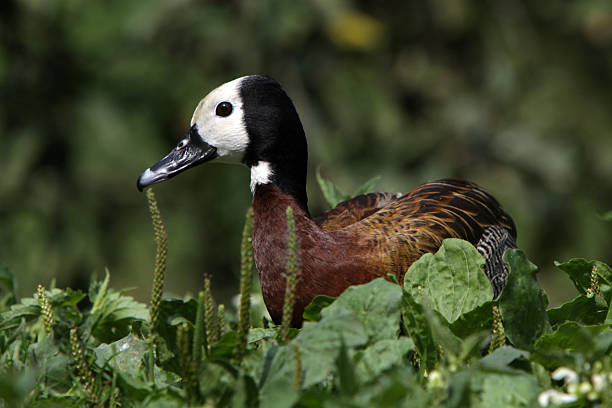
[[(498, 301), (483, 301), (478, 279), (461, 278), (480, 272), (474, 251), (467, 242), (447, 240), (411, 268), (404, 288), (379, 278), (335, 300), (319, 297), (309, 308), (311, 321), (288, 341), (279, 338), (280, 327), (251, 328), (243, 350), (236, 326), (208, 354), (194, 348), (203, 336), (202, 326), (195, 329), (199, 335), (194, 328), (204, 314), (204, 294), (198, 313), (193, 300), (162, 300), (153, 378), (143, 304), (113, 290), (109, 274), (93, 281), (87, 295), (54, 288), (46, 292), (56, 317), (50, 335), (44, 335), (36, 299), (0, 313), (0, 406), (533, 407), (553, 391), (580, 407), (609, 401), (610, 384), (600, 381), (612, 372), (612, 331), (602, 324), (603, 309), (610, 309), (606, 298), (579, 297), (542, 312), (534, 266), (509, 250), (508, 290)], [(456, 300), (461, 307), (432, 300), (439, 296), (432, 265), (455, 274), (455, 287), (464, 285), (468, 298)], [(432, 279), (411, 280), (421, 274)], [(14, 283), (9, 277), (7, 284)], [(515, 298), (529, 309), (517, 309)], [(483, 325), (473, 316), (491, 313), (491, 303), (502, 315), (505, 310), (503, 328), (513, 347), (487, 354), (493, 319)], [(597, 316), (582, 316), (594, 308)], [(523, 319), (515, 317), (521, 310)], [(587, 385), (551, 382), (559, 367)], [(588, 387), (590, 394), (581, 394)]]

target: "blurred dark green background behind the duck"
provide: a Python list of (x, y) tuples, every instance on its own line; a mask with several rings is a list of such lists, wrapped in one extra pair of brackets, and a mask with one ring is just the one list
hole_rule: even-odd
[[(0, 264), (39, 282), (149, 297), (152, 228), (136, 179), (196, 104), (264, 73), (293, 98), (314, 173), (344, 191), (464, 177), (514, 217), (553, 304), (555, 260), (612, 262), (612, 3), (0, 2)], [(209, 164), (155, 187), (166, 291), (237, 293), (249, 172)]]

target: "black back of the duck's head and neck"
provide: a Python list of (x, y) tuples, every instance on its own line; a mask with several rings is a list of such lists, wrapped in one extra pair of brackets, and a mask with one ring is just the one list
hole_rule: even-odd
[(291, 98), (277, 81), (263, 75), (246, 77), (240, 96), (250, 139), (243, 162), (249, 167), (270, 163), (271, 181), (308, 211), (308, 145)]

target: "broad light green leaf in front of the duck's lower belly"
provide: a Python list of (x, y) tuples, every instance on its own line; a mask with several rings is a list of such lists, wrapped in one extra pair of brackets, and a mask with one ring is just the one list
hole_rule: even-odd
[(396, 338), (399, 333), (402, 288), (384, 278), (346, 289), (321, 311), (323, 318), (351, 312), (362, 324), (370, 342)]

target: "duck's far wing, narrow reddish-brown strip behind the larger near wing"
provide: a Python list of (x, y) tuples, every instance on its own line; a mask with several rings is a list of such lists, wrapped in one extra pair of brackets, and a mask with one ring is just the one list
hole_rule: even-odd
[(392, 193), (361, 194), (314, 218), (314, 222), (324, 230), (338, 230), (374, 214), (400, 196)]

